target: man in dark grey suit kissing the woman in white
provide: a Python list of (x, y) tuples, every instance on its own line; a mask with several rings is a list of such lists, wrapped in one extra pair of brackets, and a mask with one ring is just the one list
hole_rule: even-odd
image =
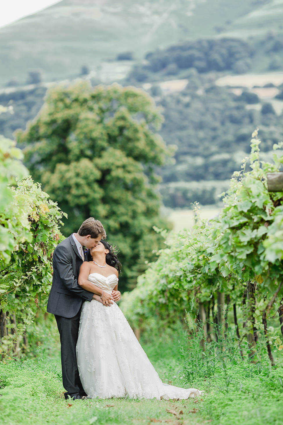
[[(82, 223), (77, 233), (57, 245), (53, 253), (53, 279), (47, 311), (54, 314), (60, 334), (62, 380), (67, 391), (65, 399), (69, 396), (81, 399), (87, 395), (82, 388), (76, 364), (79, 318), (85, 300), (102, 300), (93, 293), (91, 282), (87, 290), (79, 286), (78, 275), (80, 266), (87, 259), (83, 246), (91, 249), (105, 238), (106, 233), (100, 221), (90, 217)], [(109, 303), (113, 304), (112, 301)]]

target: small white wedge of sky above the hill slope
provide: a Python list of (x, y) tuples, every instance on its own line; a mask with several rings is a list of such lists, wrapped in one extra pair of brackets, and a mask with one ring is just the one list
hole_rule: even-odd
[(60, 0), (0, 0), (0, 27), (31, 15)]

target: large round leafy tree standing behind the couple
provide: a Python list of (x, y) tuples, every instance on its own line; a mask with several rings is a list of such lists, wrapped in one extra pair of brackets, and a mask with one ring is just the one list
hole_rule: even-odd
[[(36, 181), (68, 213), (65, 235), (88, 216), (99, 218), (131, 286), (162, 238), (154, 167), (170, 153), (155, 133), (162, 117), (143, 91), (86, 82), (57, 86), (17, 140)], [(124, 281), (123, 281), (124, 280)]]

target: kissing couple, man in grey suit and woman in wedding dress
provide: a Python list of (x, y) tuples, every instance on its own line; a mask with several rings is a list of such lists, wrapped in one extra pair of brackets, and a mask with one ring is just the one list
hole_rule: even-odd
[(196, 388), (167, 385), (158, 377), (116, 304), (121, 263), (105, 239), (101, 222), (90, 217), (53, 253), (47, 311), (60, 334), (65, 399), (200, 395)]

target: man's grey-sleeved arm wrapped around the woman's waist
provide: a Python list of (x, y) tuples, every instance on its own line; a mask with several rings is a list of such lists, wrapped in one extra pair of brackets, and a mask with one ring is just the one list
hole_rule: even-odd
[(57, 269), (60, 281), (69, 291), (78, 297), (91, 301), (94, 295), (93, 285), (90, 282), (88, 289), (83, 289), (74, 276), (70, 254), (65, 246), (58, 246), (53, 253), (53, 268)]

